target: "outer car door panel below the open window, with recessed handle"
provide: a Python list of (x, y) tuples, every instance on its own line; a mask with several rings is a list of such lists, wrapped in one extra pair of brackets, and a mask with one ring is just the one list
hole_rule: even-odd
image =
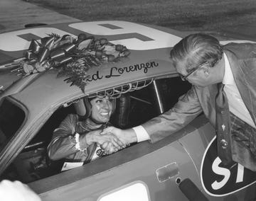
[(43, 200), (186, 200), (178, 183), (198, 183), (198, 173), (181, 144), (166, 143), (142, 142), (29, 185)]

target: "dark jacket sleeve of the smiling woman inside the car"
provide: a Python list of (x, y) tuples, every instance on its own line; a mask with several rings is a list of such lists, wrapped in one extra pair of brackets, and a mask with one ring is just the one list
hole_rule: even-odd
[[(87, 156), (87, 144), (82, 143), (79, 151), (75, 148), (75, 115), (68, 115), (60, 126), (53, 132), (53, 138), (48, 145), (48, 156), (52, 160), (58, 160), (63, 158), (69, 159), (83, 159)], [(81, 144), (80, 144), (81, 146)]]

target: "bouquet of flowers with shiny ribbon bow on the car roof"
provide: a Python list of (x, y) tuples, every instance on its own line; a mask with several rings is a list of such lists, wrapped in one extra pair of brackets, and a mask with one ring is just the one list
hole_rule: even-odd
[(80, 33), (78, 38), (70, 35), (49, 34), (41, 38), (41, 43), (31, 40), (25, 57), (17, 62), (8, 64), (9, 67), (18, 67), (12, 71), (18, 75), (29, 76), (48, 69), (58, 69), (57, 77), (68, 76), (66, 81), (70, 86), (78, 86), (85, 92), (88, 69), (99, 67), (104, 62), (117, 62), (120, 57), (130, 54), (127, 47), (114, 45), (106, 38), (95, 39)]

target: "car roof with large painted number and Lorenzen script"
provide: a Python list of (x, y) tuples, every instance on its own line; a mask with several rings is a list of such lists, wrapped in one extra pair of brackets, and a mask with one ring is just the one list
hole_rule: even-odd
[[(100, 28), (98, 28), (99, 26)], [(114, 34), (113, 31), (117, 31), (118, 34)], [(40, 28), (28, 28), (0, 34), (1, 64), (22, 57), (28, 49), (31, 38), (40, 39), (38, 36), (43, 37), (47, 36), (46, 33), (54, 32), (70, 33), (73, 36), (90, 33), (95, 38), (107, 38), (114, 44), (126, 42), (125, 45), (131, 53), (128, 57), (122, 57), (119, 62), (107, 62), (100, 67), (89, 69), (87, 74), (94, 80), (87, 81), (85, 93), (77, 86), (70, 86), (63, 81), (66, 77), (57, 78), (58, 71), (53, 69), (23, 78), (11, 70), (5, 69), (0, 72), (0, 90), (4, 91), (0, 92), (0, 98), (13, 96), (25, 105), (35, 105), (36, 107), (38, 103), (41, 103), (41, 107), (46, 107), (132, 81), (175, 74), (176, 69), (171, 64), (169, 52), (181, 38), (189, 34), (155, 25), (142, 25), (126, 21), (46, 25)], [(17, 50), (11, 51), (11, 48)]]

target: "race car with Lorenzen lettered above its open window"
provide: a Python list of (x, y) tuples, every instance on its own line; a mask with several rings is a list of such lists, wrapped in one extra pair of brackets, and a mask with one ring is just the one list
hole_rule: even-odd
[[(1, 180), (21, 180), (42, 200), (51, 201), (250, 200), (255, 195), (255, 173), (238, 163), (230, 169), (223, 166), (215, 130), (203, 114), (154, 144), (132, 144), (60, 171), (62, 161), (50, 161), (47, 147), (60, 122), (80, 112), (75, 105), (83, 98), (115, 98), (116, 111), (110, 121), (126, 129), (169, 110), (191, 88), (169, 59), (171, 48), (189, 33), (126, 21), (27, 27), (0, 34)], [(254, 42), (245, 35), (209, 34), (223, 44)], [(60, 60), (70, 62), (76, 56), (69, 54), (69, 48), (58, 49), (62, 55), (58, 59), (53, 58), (59, 54), (48, 50), (31, 57), (32, 46), (46, 47), (42, 39), (59, 40), (66, 35), (76, 42), (79, 36), (90, 41), (105, 39), (110, 46), (122, 48), (117, 54), (112, 52), (116, 55), (112, 60), (105, 57), (101, 62), (93, 57), (97, 65), (87, 67), (82, 82), (75, 82), (68, 74), (58, 76)], [(46, 44), (52, 45), (49, 41)], [(129, 54), (122, 54), (124, 50)], [(48, 65), (36, 66), (35, 60)]]

